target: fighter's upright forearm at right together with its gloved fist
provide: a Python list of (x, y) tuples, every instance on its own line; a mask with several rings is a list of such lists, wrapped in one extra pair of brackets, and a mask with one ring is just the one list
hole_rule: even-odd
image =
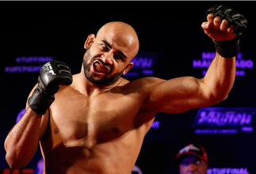
[(235, 55), (239, 53), (239, 40), (248, 22), (235, 9), (220, 4), (208, 9), (207, 14), (207, 22), (202, 28), (214, 40), (216, 58), (202, 79), (203, 92), (214, 99), (224, 100), (235, 81)]

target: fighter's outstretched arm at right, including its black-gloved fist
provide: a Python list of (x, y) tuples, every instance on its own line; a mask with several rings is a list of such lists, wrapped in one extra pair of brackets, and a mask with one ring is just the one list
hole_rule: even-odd
[(235, 81), (235, 55), (239, 53), (239, 39), (246, 30), (246, 19), (227, 6), (213, 6), (208, 10), (204, 32), (214, 40), (216, 57), (204, 78), (155, 79), (145, 100), (145, 108), (152, 112), (185, 112), (216, 104), (227, 98)]

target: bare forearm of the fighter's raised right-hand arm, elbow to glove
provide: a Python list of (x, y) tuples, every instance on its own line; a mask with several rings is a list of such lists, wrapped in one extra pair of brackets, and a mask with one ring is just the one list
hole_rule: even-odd
[(235, 57), (224, 58), (216, 52), (203, 80), (204, 90), (216, 100), (224, 100), (235, 81)]

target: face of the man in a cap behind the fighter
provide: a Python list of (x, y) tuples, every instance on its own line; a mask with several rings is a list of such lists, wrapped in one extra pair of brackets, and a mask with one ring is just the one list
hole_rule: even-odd
[(197, 156), (185, 157), (179, 165), (180, 174), (205, 174), (208, 170), (208, 164)]

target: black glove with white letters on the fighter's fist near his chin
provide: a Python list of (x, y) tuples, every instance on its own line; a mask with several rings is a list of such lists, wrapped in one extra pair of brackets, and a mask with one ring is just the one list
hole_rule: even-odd
[(44, 115), (55, 100), (59, 85), (71, 85), (72, 81), (71, 70), (64, 62), (52, 60), (45, 63), (40, 70), (37, 88), (29, 97), (29, 108)]

